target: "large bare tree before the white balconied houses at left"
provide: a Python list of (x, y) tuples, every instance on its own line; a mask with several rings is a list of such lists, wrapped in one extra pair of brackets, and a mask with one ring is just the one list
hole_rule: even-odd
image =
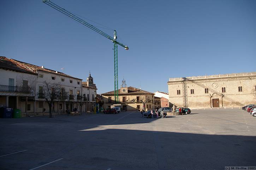
[(59, 83), (49, 83), (47, 81), (43, 82), (43, 88), (37, 95), (40, 98), (44, 98), (49, 105), (49, 117), (52, 117), (53, 102), (59, 99), (61, 94), (61, 86)]

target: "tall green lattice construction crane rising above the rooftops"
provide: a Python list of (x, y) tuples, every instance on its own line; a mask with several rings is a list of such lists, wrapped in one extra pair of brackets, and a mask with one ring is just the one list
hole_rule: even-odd
[(117, 31), (114, 30), (114, 38), (106, 34), (105, 32), (97, 29), (95, 26), (89, 24), (88, 22), (84, 21), (83, 19), (77, 17), (75, 14), (72, 14), (71, 12), (65, 10), (64, 8), (61, 8), (60, 6), (54, 4), (50, 0), (42, 0), (44, 4), (49, 5), (50, 7), (54, 8), (55, 10), (60, 11), (61, 13), (65, 14), (66, 16), (76, 20), (77, 22), (83, 24), (84, 26), (87, 26), (88, 28), (98, 32), (99, 34), (103, 35), (104, 37), (108, 38), (114, 43), (114, 78), (115, 78), (115, 103), (118, 103), (118, 57), (117, 57), (117, 45), (121, 45), (124, 47), (124, 49), (129, 50), (127, 45), (124, 45), (117, 41)]

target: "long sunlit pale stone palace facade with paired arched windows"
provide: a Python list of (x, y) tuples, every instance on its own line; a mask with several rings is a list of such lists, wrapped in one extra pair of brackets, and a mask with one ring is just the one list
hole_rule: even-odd
[(169, 78), (169, 102), (177, 107), (242, 107), (256, 104), (256, 72)]

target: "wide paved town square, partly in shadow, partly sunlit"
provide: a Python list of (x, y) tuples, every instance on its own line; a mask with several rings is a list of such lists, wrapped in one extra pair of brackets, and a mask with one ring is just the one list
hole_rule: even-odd
[(256, 166), (256, 117), (242, 109), (194, 109), (0, 119), (0, 169), (225, 169)]

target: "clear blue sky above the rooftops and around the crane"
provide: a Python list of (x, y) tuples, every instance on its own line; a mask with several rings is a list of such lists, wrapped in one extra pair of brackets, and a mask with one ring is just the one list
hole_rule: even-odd
[[(169, 77), (256, 70), (255, 0), (52, 2), (117, 30), (130, 48), (118, 48), (119, 85), (124, 77), (128, 86), (167, 92)], [(41, 0), (1, 0), (0, 24), (1, 56), (64, 67), (84, 80), (90, 70), (99, 93), (114, 90), (113, 43), (107, 38)], [(113, 36), (113, 30), (102, 31)]]

